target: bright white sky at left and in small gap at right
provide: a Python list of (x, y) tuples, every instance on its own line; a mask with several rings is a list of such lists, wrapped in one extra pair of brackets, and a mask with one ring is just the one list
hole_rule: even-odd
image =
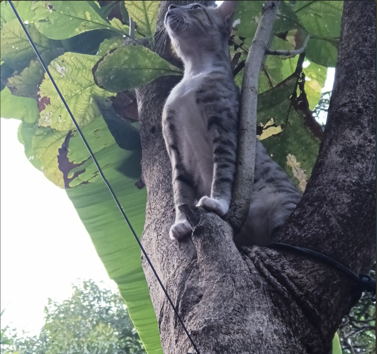
[[(323, 92), (331, 90), (330, 68)], [(37, 334), (47, 298), (67, 299), (75, 279), (109, 279), (64, 190), (26, 159), (17, 120), (0, 119), (0, 302), (6, 324)]]

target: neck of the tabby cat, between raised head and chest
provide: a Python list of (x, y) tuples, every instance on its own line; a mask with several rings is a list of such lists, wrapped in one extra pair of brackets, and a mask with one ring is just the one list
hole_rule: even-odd
[(216, 52), (196, 52), (193, 55), (186, 55), (183, 58), (183, 63), (185, 78), (219, 70), (229, 71), (230, 55)]

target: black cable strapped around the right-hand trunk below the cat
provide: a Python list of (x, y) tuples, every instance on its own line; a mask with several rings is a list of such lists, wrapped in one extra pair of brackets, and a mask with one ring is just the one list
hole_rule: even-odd
[(335, 259), (332, 259), (328, 256), (325, 256), (322, 253), (309, 250), (308, 248), (303, 247), (297, 247), (287, 244), (281, 244), (281, 243), (273, 243), (268, 245), (269, 248), (277, 248), (287, 251), (297, 251), (298, 253), (305, 254), (312, 256), (314, 258), (320, 259), (321, 261), (333, 266), (337, 270), (341, 271), (343, 274), (348, 276), (351, 280), (353, 280), (356, 283), (356, 291), (352, 299), (352, 306), (356, 305), (356, 303), (360, 300), (360, 297), (362, 295), (363, 291), (366, 291), (368, 293), (372, 293), (372, 302), (376, 301), (376, 281), (368, 274), (360, 274), (359, 276), (355, 274), (353, 271), (351, 271), (349, 268), (347, 268), (345, 265), (335, 261)]

